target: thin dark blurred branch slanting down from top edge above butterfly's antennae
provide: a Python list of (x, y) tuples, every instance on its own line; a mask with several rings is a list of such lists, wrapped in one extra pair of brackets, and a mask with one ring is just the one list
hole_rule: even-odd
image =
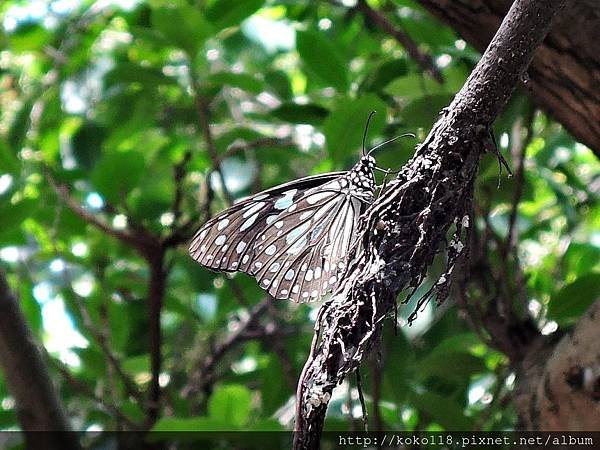
[(385, 15), (371, 8), (366, 0), (358, 0), (355, 8), (361, 11), (365, 17), (371, 20), (383, 31), (396, 39), (396, 41), (398, 41), (398, 43), (404, 47), (409, 56), (417, 63), (423, 72), (431, 75), (438, 83), (444, 83), (444, 77), (433, 62), (431, 55), (419, 50), (417, 43), (413, 41), (408, 34), (406, 34), (398, 26), (392, 24)]

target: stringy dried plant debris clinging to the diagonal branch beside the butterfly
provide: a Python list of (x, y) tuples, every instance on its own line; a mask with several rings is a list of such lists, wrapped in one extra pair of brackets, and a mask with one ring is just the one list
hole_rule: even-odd
[[(436, 136), (434, 129), (429, 139)], [(303, 376), (312, 382), (302, 393), (308, 414), (326, 407), (335, 385), (359, 365), (378, 327), (396, 311), (398, 293), (406, 290), (408, 302), (440, 252), (446, 255), (445, 269), (420, 296), (409, 323), (430, 299), (441, 303), (448, 296), (452, 272), (466, 253), (473, 181), (489, 134), (461, 145), (457, 138), (443, 145), (429, 139), (365, 213), (362, 245), (319, 312), (315, 328), (322, 341), (318, 352), (312, 349)], [(307, 376), (310, 371), (316, 376)], [(328, 379), (331, 374), (335, 377)]]

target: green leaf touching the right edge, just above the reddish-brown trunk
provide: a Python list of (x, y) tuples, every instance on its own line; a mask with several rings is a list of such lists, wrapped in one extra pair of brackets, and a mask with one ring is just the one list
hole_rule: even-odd
[(584, 275), (552, 296), (548, 304), (548, 318), (559, 325), (573, 323), (599, 298), (600, 273)]

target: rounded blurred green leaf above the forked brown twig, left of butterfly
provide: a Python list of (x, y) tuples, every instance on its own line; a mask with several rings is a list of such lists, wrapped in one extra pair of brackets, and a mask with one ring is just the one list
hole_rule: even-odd
[(141, 152), (106, 152), (92, 173), (92, 182), (109, 202), (116, 204), (138, 184), (143, 169)]

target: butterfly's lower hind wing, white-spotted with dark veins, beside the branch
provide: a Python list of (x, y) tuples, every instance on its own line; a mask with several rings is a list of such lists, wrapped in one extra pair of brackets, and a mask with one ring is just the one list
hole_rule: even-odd
[(338, 184), (307, 191), (259, 234), (250, 273), (275, 298), (310, 301), (337, 286), (365, 208)]

